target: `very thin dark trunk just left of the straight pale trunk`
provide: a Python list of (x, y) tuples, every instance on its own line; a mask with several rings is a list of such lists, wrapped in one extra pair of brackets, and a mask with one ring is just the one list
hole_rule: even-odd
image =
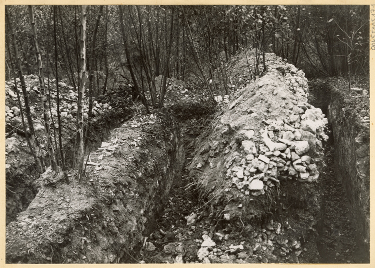
[[(54, 39), (54, 67), (57, 72), (57, 39), (56, 39), (56, 23), (57, 23), (57, 9), (56, 6), (53, 7), (53, 39)], [(58, 75), (56, 75), (56, 102), (57, 102), (57, 123), (58, 123), (58, 147), (60, 151), (60, 160), (61, 160), (61, 168), (62, 172), (64, 173), (64, 178), (66, 184), (69, 184), (69, 179), (67, 177), (67, 173), (65, 170), (65, 159), (64, 159), (64, 153), (62, 151), (62, 141), (61, 141), (61, 117), (60, 117), (60, 96), (59, 96), (59, 90), (58, 90)]]

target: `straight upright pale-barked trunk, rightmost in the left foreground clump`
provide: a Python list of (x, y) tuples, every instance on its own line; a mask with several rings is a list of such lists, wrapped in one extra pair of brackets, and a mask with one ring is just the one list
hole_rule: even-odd
[(78, 161), (78, 183), (82, 179), (83, 158), (84, 158), (84, 138), (83, 138), (83, 101), (84, 101), (84, 85), (87, 79), (86, 75), (86, 6), (81, 8), (80, 20), (80, 87), (78, 92), (78, 110), (77, 110), (77, 137), (76, 144), (77, 161)]

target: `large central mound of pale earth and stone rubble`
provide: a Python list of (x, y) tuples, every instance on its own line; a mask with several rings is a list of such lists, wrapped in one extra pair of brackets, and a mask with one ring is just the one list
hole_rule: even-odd
[(307, 103), (303, 72), (266, 57), (267, 73), (243, 84), (189, 167), (211, 215), (226, 221), (261, 218), (280, 184), (319, 177), (327, 119)]

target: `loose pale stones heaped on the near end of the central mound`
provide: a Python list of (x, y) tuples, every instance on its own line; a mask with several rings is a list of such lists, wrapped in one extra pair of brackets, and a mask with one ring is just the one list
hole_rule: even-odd
[[(298, 114), (288, 117), (288, 122), (264, 122), (268, 126), (260, 134), (262, 143), (250, 140), (255, 134), (253, 130), (242, 131), (245, 139), (241, 147), (245, 155), (234, 153), (224, 163), (228, 168), (226, 179), (231, 179), (246, 195), (264, 194), (267, 187), (278, 185), (280, 180), (314, 182), (319, 176), (317, 163), (322, 140), (328, 138), (323, 132), (327, 119), (320, 109), (308, 104), (288, 108)], [(238, 158), (241, 158), (239, 164), (232, 165)]]

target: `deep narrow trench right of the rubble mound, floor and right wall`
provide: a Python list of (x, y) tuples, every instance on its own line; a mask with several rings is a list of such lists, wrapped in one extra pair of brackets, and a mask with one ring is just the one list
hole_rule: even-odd
[(310, 82), (309, 88), (311, 103), (321, 108), (329, 123), (326, 166), (320, 176), (322, 205), (317, 224), (320, 262), (368, 263), (368, 128), (358, 123), (360, 120), (352, 110), (345, 114), (353, 101), (342, 90), (319, 81)]

